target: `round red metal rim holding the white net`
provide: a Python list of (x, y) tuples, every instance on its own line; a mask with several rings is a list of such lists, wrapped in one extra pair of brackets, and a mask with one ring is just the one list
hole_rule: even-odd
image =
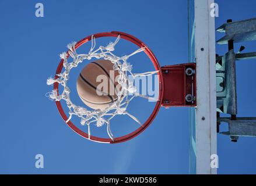
[[(161, 103), (162, 103), (162, 99), (163, 99), (163, 74), (162, 74), (162, 71), (161, 71), (161, 67), (159, 66), (159, 63), (156, 59), (156, 56), (153, 54), (153, 52), (142, 41), (140, 41), (138, 38), (135, 38), (132, 35), (122, 33), (122, 32), (119, 32), (119, 31), (111, 31), (111, 32), (107, 32), (107, 33), (93, 34), (93, 36), (95, 38), (118, 37), (118, 35), (120, 35), (121, 38), (123, 38), (124, 40), (127, 40), (127, 41), (130, 41), (130, 42), (134, 43), (139, 48), (145, 47), (144, 52), (146, 53), (146, 55), (148, 55), (149, 59), (152, 61), (155, 69), (159, 70), (159, 73), (158, 73), (158, 75), (159, 75), (159, 101), (156, 102), (156, 106), (155, 106), (153, 112), (149, 116), (148, 120), (146, 120), (145, 123), (141, 127), (139, 127), (137, 130), (135, 130), (132, 133), (129, 133), (127, 135), (124, 135), (122, 137), (114, 138), (114, 141), (112, 141), (110, 138), (99, 138), (99, 137), (95, 137), (93, 135), (91, 135), (90, 139), (89, 139), (88, 134), (83, 132), (82, 130), (80, 130), (78, 127), (76, 127), (72, 123), (72, 121), (68, 121), (66, 123), (66, 124), (68, 124), (68, 126), (73, 131), (75, 131), (75, 133), (81, 135), (84, 138), (87, 138), (88, 140), (97, 141), (97, 142), (111, 143), (111, 144), (116, 144), (116, 143), (131, 140), (132, 138), (134, 138), (137, 135), (139, 135), (140, 133), (142, 133), (142, 131), (144, 131), (150, 125), (150, 123), (153, 121), (153, 119), (155, 119), (155, 117), (157, 115), (157, 112), (159, 111), (159, 109), (161, 107)], [(79, 48), (81, 45), (85, 44), (86, 42), (88, 42), (90, 40), (92, 40), (92, 35), (89, 35), (88, 37), (83, 38), (82, 40), (77, 42), (76, 45), (75, 45), (75, 48)], [(68, 55), (68, 53), (67, 53), (67, 55)], [(61, 73), (62, 67), (63, 67), (63, 59), (61, 60), (61, 62), (59, 62), (59, 65), (58, 65), (57, 70), (56, 70), (56, 74)], [(57, 76), (55, 76), (55, 78), (57, 78)], [(58, 85), (59, 85), (58, 83), (54, 83), (54, 90), (58, 91)], [(62, 108), (61, 102), (57, 101), (56, 105), (57, 105), (57, 108), (59, 110), (59, 113), (61, 114), (62, 119), (64, 119), (64, 121), (68, 120), (68, 116), (66, 116), (66, 114), (65, 114), (65, 112)]]

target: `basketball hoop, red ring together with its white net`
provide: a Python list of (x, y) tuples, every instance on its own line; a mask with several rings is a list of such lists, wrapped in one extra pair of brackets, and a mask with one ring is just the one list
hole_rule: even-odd
[[(96, 49), (94, 51), (95, 45), (96, 45), (96, 38), (101, 38), (101, 37), (116, 37), (115, 42), (111, 42), (109, 45), (107, 45), (107, 47), (99, 47), (99, 49)], [(131, 53), (131, 55), (127, 55), (127, 56), (122, 56), (122, 57), (118, 57), (115, 56), (112, 51), (114, 51), (114, 47), (117, 44), (117, 42), (119, 41), (119, 39), (122, 38), (124, 40), (130, 41), (132, 43), (134, 43), (135, 45), (137, 45), (139, 47), (139, 49), (133, 53)], [(78, 49), (80, 46), (82, 46), (83, 44), (85, 44), (88, 41), (92, 41), (92, 47), (89, 51), (88, 54), (85, 55), (78, 55), (78, 53), (76, 53), (76, 49)], [(120, 142), (124, 142), (127, 140), (131, 140), (132, 138), (136, 137), (136, 135), (142, 133), (142, 131), (144, 131), (149, 124), (153, 121), (153, 119), (155, 119), (157, 112), (159, 111), (161, 105), (162, 105), (162, 100), (163, 100), (163, 74), (162, 74), (162, 70), (161, 67), (159, 66), (159, 63), (157, 62), (157, 59), (155, 57), (155, 55), (153, 54), (152, 51), (150, 51), (150, 49), (140, 40), (138, 40), (138, 38), (135, 38), (132, 35), (126, 34), (126, 33), (121, 33), (118, 31), (112, 31), (112, 32), (108, 32), (108, 33), (98, 33), (98, 34), (93, 34), (93, 35), (89, 35), (86, 38), (83, 38), (82, 40), (80, 40), (77, 43), (72, 43), (68, 45), (69, 51), (68, 52), (64, 52), (61, 54), (61, 62), (59, 62), (59, 65), (57, 67), (56, 70), (56, 75), (55, 78), (49, 78), (47, 80), (47, 84), (54, 84), (54, 90), (50, 93), (50, 98), (54, 99), (54, 101), (56, 102), (57, 108), (59, 110), (59, 113), (61, 114), (62, 119), (64, 119), (64, 121), (66, 122), (66, 124), (68, 124), (68, 126), (75, 131), (75, 133), (81, 135), (84, 138), (87, 138), (89, 140), (92, 141), (96, 141), (96, 142), (103, 142), (103, 143), (110, 143), (110, 144), (114, 144), (114, 143), (120, 143)], [(132, 73), (131, 72), (131, 68), (129, 68), (129, 63), (127, 62), (127, 59), (132, 56), (135, 55), (138, 52), (145, 52), (146, 55), (148, 55), (149, 59), (152, 61), (155, 70), (156, 71), (152, 71), (152, 72), (146, 72), (146, 73)], [(71, 56), (73, 58), (73, 62), (68, 63), (67, 59), (69, 58), (69, 56)], [(80, 106), (76, 106), (74, 105), (70, 98), (69, 98), (69, 88), (66, 85), (66, 82), (68, 81), (68, 74), (69, 71), (72, 69), (72, 67), (76, 67), (78, 66), (79, 63), (81, 63), (83, 60), (87, 59), (91, 59), (91, 58), (104, 58), (104, 59), (108, 59), (111, 60), (111, 62), (114, 63), (114, 66), (118, 69), (121, 66), (123, 67), (122, 70), (120, 70), (122, 73), (122, 79), (121, 84), (129, 84), (129, 80), (127, 79), (127, 73), (132, 74), (133, 77), (137, 77), (137, 76), (150, 76), (152, 74), (157, 73), (159, 76), (159, 98), (156, 101), (156, 106), (153, 109), (153, 112), (151, 113), (151, 115), (149, 116), (148, 120), (145, 121), (144, 124), (141, 124), (139, 122), (138, 119), (136, 119), (136, 117), (132, 116), (131, 114), (129, 114), (128, 112), (126, 112), (126, 108), (128, 106), (129, 101), (131, 101), (131, 99), (133, 99), (135, 96), (141, 96), (143, 98), (148, 98), (148, 99), (152, 99), (148, 96), (143, 96), (143, 95), (139, 95), (137, 93), (134, 92), (134, 96), (132, 96), (132, 98), (128, 98), (128, 96), (122, 96), (119, 95), (118, 96), (118, 102), (111, 105), (110, 108), (108, 108), (108, 110), (105, 110), (104, 112), (101, 112), (99, 110), (93, 110), (93, 111), (89, 111), (86, 110), (85, 108), (82, 108)], [(122, 63), (120, 64), (120, 61), (122, 61)], [(117, 64), (117, 65), (116, 65)], [(65, 72), (61, 73), (63, 67), (65, 68)], [(125, 69), (124, 69), (125, 67)], [(62, 94), (59, 94), (59, 84), (61, 84), (64, 87), (64, 92)], [(132, 92), (132, 87), (128, 87), (128, 88), (124, 88), (124, 91), (127, 92)], [(66, 115), (66, 113), (64, 112), (64, 109), (62, 108), (61, 105), (61, 99), (64, 99), (68, 105), (69, 108), (69, 117)], [(108, 111), (110, 110), (114, 110), (114, 114), (113, 113), (108, 113)], [(112, 119), (115, 115), (128, 115), (129, 117), (131, 117), (132, 119), (134, 119), (137, 123), (139, 123), (141, 126), (133, 131), (132, 133), (129, 133), (127, 135), (124, 135), (122, 137), (117, 137), (114, 138), (114, 135), (111, 133), (110, 130), (110, 119), (105, 120), (103, 116), (110, 116), (110, 119)], [(72, 121), (71, 121), (71, 117), (73, 115), (79, 116), (81, 117), (81, 124), (85, 125), (87, 124), (88, 127), (88, 133), (85, 133), (84, 131), (80, 130), (78, 127), (76, 127)], [(84, 117), (86, 116), (86, 117)], [(90, 117), (90, 118), (89, 118)], [(100, 127), (103, 124), (107, 125), (107, 133), (108, 136), (110, 138), (100, 138), (100, 137), (96, 137), (90, 134), (90, 123), (96, 122), (97, 126)]]

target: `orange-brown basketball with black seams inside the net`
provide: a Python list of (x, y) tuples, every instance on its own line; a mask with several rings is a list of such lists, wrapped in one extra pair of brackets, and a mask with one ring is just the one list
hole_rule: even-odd
[(117, 101), (117, 70), (110, 60), (96, 60), (86, 65), (76, 81), (80, 99), (92, 109), (106, 109)]

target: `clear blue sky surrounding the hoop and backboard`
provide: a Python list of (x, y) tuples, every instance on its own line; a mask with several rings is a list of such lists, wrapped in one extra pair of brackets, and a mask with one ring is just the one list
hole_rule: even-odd
[[(93, 33), (118, 30), (135, 35), (152, 49), (161, 66), (187, 62), (187, 1), (40, 1), (45, 17), (35, 16), (37, 2), (0, 1), (0, 173), (187, 174), (187, 108), (161, 108), (141, 135), (106, 145), (73, 133), (55, 103), (45, 98), (51, 90), (45, 81), (54, 74), (59, 53), (69, 42)], [(220, 11), (216, 27), (227, 19), (255, 17), (253, 0), (216, 2)], [(244, 45), (247, 51), (255, 51), (255, 44)], [(216, 48), (220, 55), (226, 50), (226, 45)], [(141, 64), (136, 63), (135, 69), (147, 68)], [(253, 60), (237, 63), (239, 116), (255, 116), (251, 102), (256, 93), (255, 67)], [(142, 119), (150, 109), (132, 108)], [(118, 121), (131, 120), (121, 116)], [(234, 144), (218, 135), (218, 172), (256, 173), (255, 143), (255, 138), (241, 138)], [(44, 155), (44, 169), (34, 166), (38, 153)]]

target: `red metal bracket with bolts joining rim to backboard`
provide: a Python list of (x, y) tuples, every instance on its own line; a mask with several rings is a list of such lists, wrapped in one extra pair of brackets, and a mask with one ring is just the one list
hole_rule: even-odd
[(161, 70), (164, 79), (162, 106), (197, 106), (195, 63), (164, 66)]

